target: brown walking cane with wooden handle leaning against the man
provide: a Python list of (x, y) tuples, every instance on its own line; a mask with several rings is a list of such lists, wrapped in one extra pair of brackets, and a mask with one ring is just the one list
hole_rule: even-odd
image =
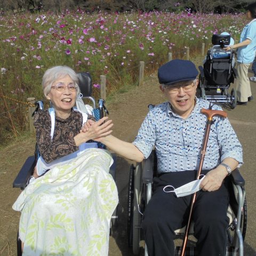
[[(204, 156), (205, 156), (205, 152), (206, 152), (206, 148), (207, 148), (207, 142), (208, 142), (208, 139), (209, 139), (209, 133), (210, 133), (211, 125), (214, 123), (212, 118), (214, 116), (222, 116), (222, 117), (227, 117), (228, 116), (228, 114), (225, 111), (212, 110), (211, 109), (211, 104), (210, 104), (209, 109), (202, 108), (201, 113), (207, 116), (207, 122), (206, 122), (206, 129), (205, 129), (205, 134), (204, 134), (204, 141), (203, 141), (203, 147), (202, 147), (202, 151), (201, 151), (199, 167), (198, 167), (198, 171), (197, 171), (197, 178), (196, 178), (197, 180), (199, 179), (201, 171), (202, 171)], [(193, 210), (193, 205), (195, 203), (195, 200), (196, 200), (196, 193), (194, 193), (192, 201), (191, 201), (190, 212), (189, 212), (189, 217), (188, 217), (188, 225), (186, 227), (185, 236), (183, 238), (182, 250), (181, 250), (180, 256), (185, 255), (185, 249), (186, 249), (186, 245), (187, 245), (187, 242), (188, 242), (188, 231), (189, 231), (189, 227), (190, 227), (192, 210)]]

